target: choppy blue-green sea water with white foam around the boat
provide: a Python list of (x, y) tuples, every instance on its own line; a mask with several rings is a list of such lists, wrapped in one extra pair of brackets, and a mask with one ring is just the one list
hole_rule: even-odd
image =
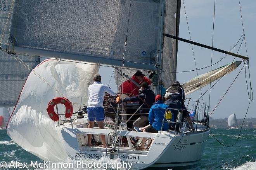
[[(230, 146), (233, 145), (237, 140), (240, 129), (211, 129), (211, 131), (223, 145)], [(12, 141), (12, 139), (10, 139), (7, 135), (6, 130), (0, 130), (0, 162), (3, 161), (7, 163), (12, 161), (17, 161), (19, 163), (30, 163), (31, 161), (43, 162), (40, 158), (23, 150), (19, 145)], [(94, 160), (84, 161), (86, 163), (94, 162)], [(73, 160), (67, 160), (66, 162), (74, 163)], [(117, 164), (118, 160), (102, 158), (97, 162), (111, 162)], [(256, 170), (256, 129), (242, 129), (239, 140), (232, 147), (225, 147), (220, 145), (220, 143), (216, 141), (213, 135), (210, 134), (209, 139), (206, 142), (206, 147), (204, 148), (204, 153), (200, 163), (201, 170)], [(0, 169), (5, 170), (8, 168)], [(43, 169), (55, 170), (56, 168)]]

